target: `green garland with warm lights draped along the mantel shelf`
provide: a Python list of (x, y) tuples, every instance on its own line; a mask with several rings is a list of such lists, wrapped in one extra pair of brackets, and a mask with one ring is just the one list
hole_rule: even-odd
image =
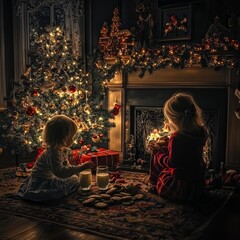
[(139, 72), (143, 78), (163, 68), (189, 68), (199, 66), (240, 69), (240, 43), (228, 37), (212, 37), (195, 44), (161, 45), (156, 48), (133, 49), (129, 56), (105, 58), (96, 52), (91, 59), (94, 81), (109, 81), (117, 71)]

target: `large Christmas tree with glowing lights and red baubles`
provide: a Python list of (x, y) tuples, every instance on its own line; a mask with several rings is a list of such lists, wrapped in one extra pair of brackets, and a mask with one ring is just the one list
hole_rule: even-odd
[(20, 83), (14, 83), (8, 109), (0, 118), (0, 148), (15, 154), (41, 148), (43, 127), (55, 114), (65, 114), (77, 123), (73, 148), (104, 145), (114, 115), (92, 93), (89, 74), (74, 56), (71, 42), (60, 27), (32, 36), (31, 64)]

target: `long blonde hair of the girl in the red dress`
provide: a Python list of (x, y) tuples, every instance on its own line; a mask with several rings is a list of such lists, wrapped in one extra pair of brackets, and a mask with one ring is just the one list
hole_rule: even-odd
[(163, 108), (166, 120), (171, 120), (176, 130), (197, 130), (204, 126), (203, 112), (193, 96), (186, 92), (175, 93)]

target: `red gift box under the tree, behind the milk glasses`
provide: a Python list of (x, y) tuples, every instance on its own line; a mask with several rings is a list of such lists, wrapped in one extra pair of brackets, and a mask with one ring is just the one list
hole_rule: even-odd
[(99, 165), (107, 165), (109, 167), (114, 167), (119, 165), (119, 152), (108, 150), (105, 148), (98, 148), (97, 152), (89, 152), (86, 154), (82, 154), (81, 158), (79, 158), (79, 149), (73, 150), (73, 158), (79, 163), (84, 163), (86, 161), (92, 161)]

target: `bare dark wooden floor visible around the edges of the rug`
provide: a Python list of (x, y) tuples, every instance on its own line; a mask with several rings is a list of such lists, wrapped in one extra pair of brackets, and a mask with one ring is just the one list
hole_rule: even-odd
[[(0, 155), (0, 169), (16, 166), (16, 159), (10, 155)], [(31, 159), (18, 159), (18, 163)], [(84, 219), (83, 219), (84, 221)], [(17, 217), (0, 212), (1, 240), (104, 240), (84, 232), (67, 229), (56, 224)], [(225, 211), (213, 223), (210, 232), (203, 238), (194, 240), (238, 240), (240, 239), (240, 193), (235, 193)], [(176, 239), (182, 240), (182, 239)]]

